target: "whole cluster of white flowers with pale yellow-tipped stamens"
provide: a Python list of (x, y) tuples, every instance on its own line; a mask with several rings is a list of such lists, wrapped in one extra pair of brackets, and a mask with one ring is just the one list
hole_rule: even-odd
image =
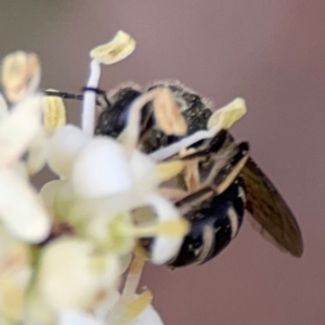
[[(118, 140), (94, 135), (101, 66), (134, 49), (135, 41), (119, 31), (90, 52), (80, 127), (66, 122), (62, 99), (38, 91), (36, 54), (20, 51), (2, 61), (1, 324), (162, 324), (151, 292), (136, 294), (147, 259), (139, 239), (155, 237), (148, 258), (156, 264), (178, 253), (188, 223), (160, 185), (193, 168), (161, 161), (182, 143), (151, 156), (138, 150), (141, 109), (152, 102), (158, 127), (168, 134), (184, 134), (186, 123), (170, 90), (159, 87), (132, 103)], [(234, 102), (219, 109), (199, 139), (230, 127), (243, 107)], [(29, 178), (46, 165), (57, 178), (37, 192)], [(151, 217), (136, 221), (134, 211), (147, 208)]]

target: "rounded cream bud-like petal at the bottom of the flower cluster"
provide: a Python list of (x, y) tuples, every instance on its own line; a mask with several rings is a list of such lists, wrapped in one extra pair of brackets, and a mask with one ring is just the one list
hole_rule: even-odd
[(54, 311), (87, 310), (105, 298), (118, 276), (115, 256), (99, 255), (90, 242), (66, 237), (44, 248), (37, 288)]

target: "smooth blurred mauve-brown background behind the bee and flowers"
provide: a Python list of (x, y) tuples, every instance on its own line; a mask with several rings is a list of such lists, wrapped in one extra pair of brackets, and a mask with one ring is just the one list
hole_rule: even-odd
[[(295, 211), (304, 255), (283, 255), (246, 221), (205, 265), (146, 266), (166, 324), (325, 324), (324, 15), (322, 0), (0, 0), (0, 54), (38, 53), (42, 88), (78, 92), (89, 50), (125, 29), (138, 49), (105, 68), (102, 88), (177, 78), (216, 107), (246, 99), (232, 132)], [(78, 122), (78, 105), (69, 109)]]

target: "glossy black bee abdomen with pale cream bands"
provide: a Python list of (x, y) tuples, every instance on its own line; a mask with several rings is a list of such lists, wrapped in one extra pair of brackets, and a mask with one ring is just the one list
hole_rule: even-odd
[(237, 235), (245, 209), (245, 187), (237, 178), (221, 195), (213, 196), (188, 211), (191, 222), (178, 256), (169, 265), (203, 264), (220, 253)]

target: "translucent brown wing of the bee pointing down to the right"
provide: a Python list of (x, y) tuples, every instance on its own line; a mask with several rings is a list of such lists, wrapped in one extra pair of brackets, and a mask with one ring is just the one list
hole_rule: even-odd
[(281, 194), (263, 171), (249, 158), (240, 176), (246, 185), (246, 209), (250, 212), (255, 227), (282, 250), (295, 257), (303, 251), (299, 225)]

